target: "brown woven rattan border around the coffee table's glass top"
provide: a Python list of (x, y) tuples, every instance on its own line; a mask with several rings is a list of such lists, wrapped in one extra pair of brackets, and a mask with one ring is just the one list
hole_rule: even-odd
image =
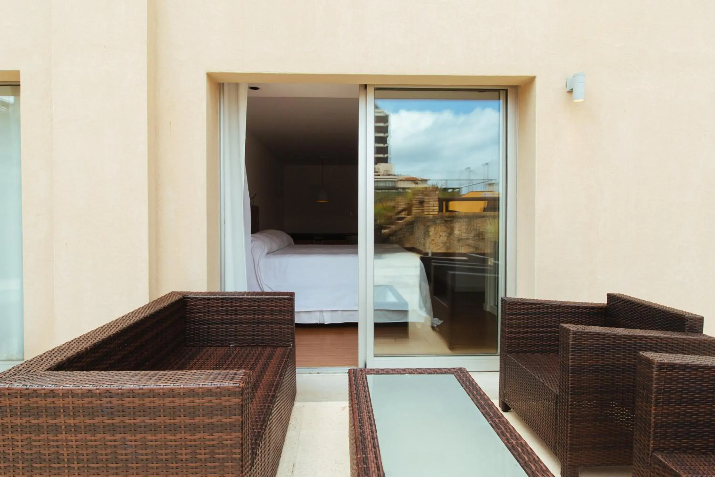
[[(368, 390), (368, 374), (453, 374), (482, 415), (501, 438), (529, 477), (553, 477), (528, 443), (514, 430), (488, 396), (464, 368), (437, 369), (352, 369), (348, 373), (350, 391), (350, 470), (352, 477), (385, 477), (373, 405)], [(476, 466), (478, 464), (475, 463)]]

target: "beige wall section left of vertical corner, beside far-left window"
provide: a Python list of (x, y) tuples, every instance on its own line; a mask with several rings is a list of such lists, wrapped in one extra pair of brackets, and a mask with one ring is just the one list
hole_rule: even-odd
[(0, 70), (21, 81), (29, 357), (149, 299), (147, 4), (0, 11)]

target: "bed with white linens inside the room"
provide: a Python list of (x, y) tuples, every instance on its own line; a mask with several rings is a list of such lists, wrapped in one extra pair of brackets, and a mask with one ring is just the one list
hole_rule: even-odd
[[(358, 322), (358, 245), (295, 245), (264, 230), (251, 235), (248, 261), (256, 291), (295, 292), (296, 323)], [(375, 245), (374, 296), (376, 323), (432, 323), (420, 255), (399, 245)]]

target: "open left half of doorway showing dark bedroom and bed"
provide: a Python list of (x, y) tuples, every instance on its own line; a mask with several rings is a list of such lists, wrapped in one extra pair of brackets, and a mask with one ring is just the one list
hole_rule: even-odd
[(358, 92), (356, 84), (247, 91), (249, 284), (296, 293), (299, 368), (358, 365)]

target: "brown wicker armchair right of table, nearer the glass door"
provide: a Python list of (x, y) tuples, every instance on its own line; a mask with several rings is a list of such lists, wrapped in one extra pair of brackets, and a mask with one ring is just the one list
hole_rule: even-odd
[(503, 298), (499, 403), (578, 468), (633, 462), (639, 351), (715, 355), (703, 318), (626, 295), (607, 303)]

